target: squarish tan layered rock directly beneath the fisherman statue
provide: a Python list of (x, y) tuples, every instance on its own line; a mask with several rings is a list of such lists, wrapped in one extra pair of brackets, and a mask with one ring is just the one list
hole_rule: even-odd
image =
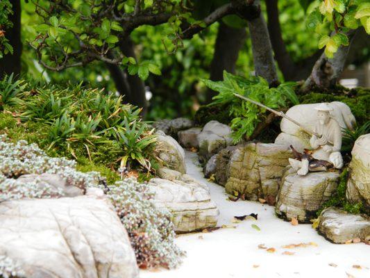
[(297, 218), (299, 222), (309, 222), (336, 192), (338, 180), (339, 172), (286, 174), (277, 197), (276, 213), (287, 220)]

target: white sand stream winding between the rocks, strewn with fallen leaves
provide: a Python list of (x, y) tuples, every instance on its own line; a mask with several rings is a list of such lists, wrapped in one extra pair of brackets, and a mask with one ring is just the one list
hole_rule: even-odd
[[(336, 245), (317, 234), (310, 224), (292, 226), (289, 222), (280, 220), (274, 214), (273, 206), (258, 202), (227, 201), (222, 186), (203, 178), (201, 168), (196, 162), (196, 154), (187, 152), (186, 156), (187, 173), (210, 187), (212, 199), (221, 213), (218, 225), (232, 224), (236, 229), (179, 236), (176, 243), (187, 252), (180, 268), (159, 272), (142, 270), (140, 277), (370, 277), (369, 245)], [(258, 213), (258, 220), (244, 220), (237, 224), (232, 222), (234, 215), (250, 213)], [(253, 229), (251, 224), (258, 225), (260, 231)], [(282, 247), (310, 242), (317, 246), (293, 249)], [(266, 247), (274, 247), (276, 251), (270, 253), (259, 249), (258, 245), (261, 243)], [(294, 254), (282, 254), (285, 251)], [(329, 263), (335, 263), (337, 267), (330, 266)], [(353, 268), (353, 265), (360, 265), (361, 269)]]

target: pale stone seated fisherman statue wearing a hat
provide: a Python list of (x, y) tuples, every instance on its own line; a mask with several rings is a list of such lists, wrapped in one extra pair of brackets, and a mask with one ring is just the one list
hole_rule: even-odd
[(317, 123), (314, 132), (318, 133), (320, 138), (312, 136), (310, 145), (313, 148), (305, 154), (298, 154), (293, 147), (296, 159), (289, 158), (289, 163), (297, 170), (297, 174), (305, 175), (308, 171), (323, 171), (330, 168), (340, 169), (343, 167), (343, 158), (340, 153), (342, 147), (342, 132), (340, 126), (333, 117), (330, 117), (330, 111), (333, 110), (328, 104), (319, 104), (317, 110)]

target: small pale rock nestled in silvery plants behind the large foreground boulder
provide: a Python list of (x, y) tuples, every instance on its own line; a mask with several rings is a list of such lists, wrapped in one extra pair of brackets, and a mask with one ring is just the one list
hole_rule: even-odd
[(42, 189), (46, 186), (51, 186), (56, 190), (60, 190), (60, 193), (65, 197), (76, 197), (84, 194), (81, 188), (72, 186), (67, 183), (67, 179), (60, 177), (58, 174), (24, 174), (19, 177), (16, 183), (31, 183), (37, 181), (37, 186)]

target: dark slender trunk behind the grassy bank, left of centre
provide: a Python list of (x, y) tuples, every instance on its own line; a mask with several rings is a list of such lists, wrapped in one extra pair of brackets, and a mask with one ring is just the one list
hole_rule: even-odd
[[(122, 54), (127, 57), (133, 57), (136, 59), (134, 44), (130, 37), (125, 37), (119, 42), (119, 49), (121, 49)], [(145, 97), (145, 85), (142, 79), (136, 74), (131, 75), (126, 71), (126, 81), (128, 84), (128, 91), (125, 93), (126, 101), (129, 103), (142, 107), (142, 116), (146, 115), (148, 109), (148, 103)], [(128, 94), (129, 92), (129, 94)]]

